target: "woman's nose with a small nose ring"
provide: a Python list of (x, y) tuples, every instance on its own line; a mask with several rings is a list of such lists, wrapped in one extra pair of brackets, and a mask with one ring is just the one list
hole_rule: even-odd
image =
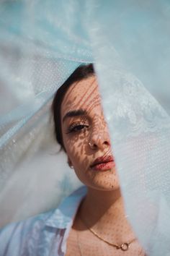
[(91, 137), (89, 140), (89, 146), (92, 150), (104, 150), (105, 148), (109, 148), (111, 145), (109, 138), (109, 131), (107, 129), (107, 124), (105, 127), (99, 127), (94, 129), (91, 132)]

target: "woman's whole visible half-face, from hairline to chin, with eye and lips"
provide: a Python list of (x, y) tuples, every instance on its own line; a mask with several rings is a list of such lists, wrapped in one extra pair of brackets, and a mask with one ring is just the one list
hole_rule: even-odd
[(61, 105), (61, 128), (68, 162), (81, 182), (94, 189), (117, 189), (119, 182), (95, 76), (75, 82), (68, 89)]

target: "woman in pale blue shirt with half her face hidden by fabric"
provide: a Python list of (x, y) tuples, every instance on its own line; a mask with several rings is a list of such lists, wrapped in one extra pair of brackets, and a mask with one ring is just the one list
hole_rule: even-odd
[(59, 88), (53, 116), (56, 139), (86, 187), (53, 212), (4, 228), (0, 255), (144, 255), (125, 216), (92, 64)]

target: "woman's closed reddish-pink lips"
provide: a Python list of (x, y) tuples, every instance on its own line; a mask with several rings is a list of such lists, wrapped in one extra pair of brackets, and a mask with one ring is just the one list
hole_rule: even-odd
[(104, 155), (95, 159), (90, 167), (94, 171), (107, 171), (115, 167), (115, 161), (112, 155)]

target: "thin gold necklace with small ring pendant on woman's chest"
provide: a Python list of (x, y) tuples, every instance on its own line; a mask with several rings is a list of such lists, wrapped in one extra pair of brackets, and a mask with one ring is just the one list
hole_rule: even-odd
[[(82, 218), (81, 218), (81, 221), (84, 223)], [(94, 229), (89, 228), (89, 226), (87, 226), (86, 223), (84, 223), (84, 225), (86, 226), (87, 229), (89, 229), (89, 231), (91, 231), (92, 234), (94, 234), (94, 236), (97, 236), (100, 240), (102, 240), (103, 242), (111, 245), (112, 247), (116, 247), (116, 249), (121, 249), (123, 252), (128, 251), (128, 249), (130, 247), (130, 244), (132, 244), (136, 240), (136, 238), (133, 238), (130, 242), (125, 242), (125, 243), (122, 243), (122, 244), (113, 244), (113, 243), (105, 240), (101, 236), (99, 236), (99, 234), (97, 234), (97, 232), (94, 231)]]

